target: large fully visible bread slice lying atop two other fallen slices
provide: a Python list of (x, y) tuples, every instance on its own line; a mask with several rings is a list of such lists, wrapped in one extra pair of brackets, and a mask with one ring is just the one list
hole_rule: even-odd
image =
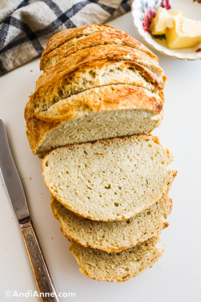
[(52, 195), (92, 220), (126, 220), (168, 191), (176, 172), (157, 137), (139, 135), (58, 148), (42, 161)]

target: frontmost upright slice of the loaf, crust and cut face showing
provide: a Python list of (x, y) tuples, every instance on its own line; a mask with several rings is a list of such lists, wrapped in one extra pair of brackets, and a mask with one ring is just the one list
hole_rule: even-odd
[(163, 94), (135, 85), (107, 85), (62, 99), (27, 120), (34, 154), (110, 137), (149, 133), (163, 114)]

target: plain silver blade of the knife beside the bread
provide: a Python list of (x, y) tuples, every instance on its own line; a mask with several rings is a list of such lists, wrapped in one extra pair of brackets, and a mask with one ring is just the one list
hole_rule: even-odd
[(29, 216), (24, 189), (17, 172), (3, 121), (0, 120), (0, 170), (17, 219)]

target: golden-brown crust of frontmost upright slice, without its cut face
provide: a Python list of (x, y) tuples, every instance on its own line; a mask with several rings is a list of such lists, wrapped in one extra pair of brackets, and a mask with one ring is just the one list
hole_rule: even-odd
[[(92, 90), (92, 89), (91, 89)], [(90, 91), (81, 92), (69, 97), (60, 107), (55, 104), (56, 116), (34, 114), (27, 119), (27, 137), (34, 151), (46, 133), (58, 127), (62, 122), (76, 118), (79, 108), (82, 112), (109, 111), (120, 109), (141, 108), (160, 113), (163, 107), (163, 93), (161, 99), (147, 94), (146, 89), (134, 85), (102, 86)], [(86, 113), (87, 114), (87, 113)]]

